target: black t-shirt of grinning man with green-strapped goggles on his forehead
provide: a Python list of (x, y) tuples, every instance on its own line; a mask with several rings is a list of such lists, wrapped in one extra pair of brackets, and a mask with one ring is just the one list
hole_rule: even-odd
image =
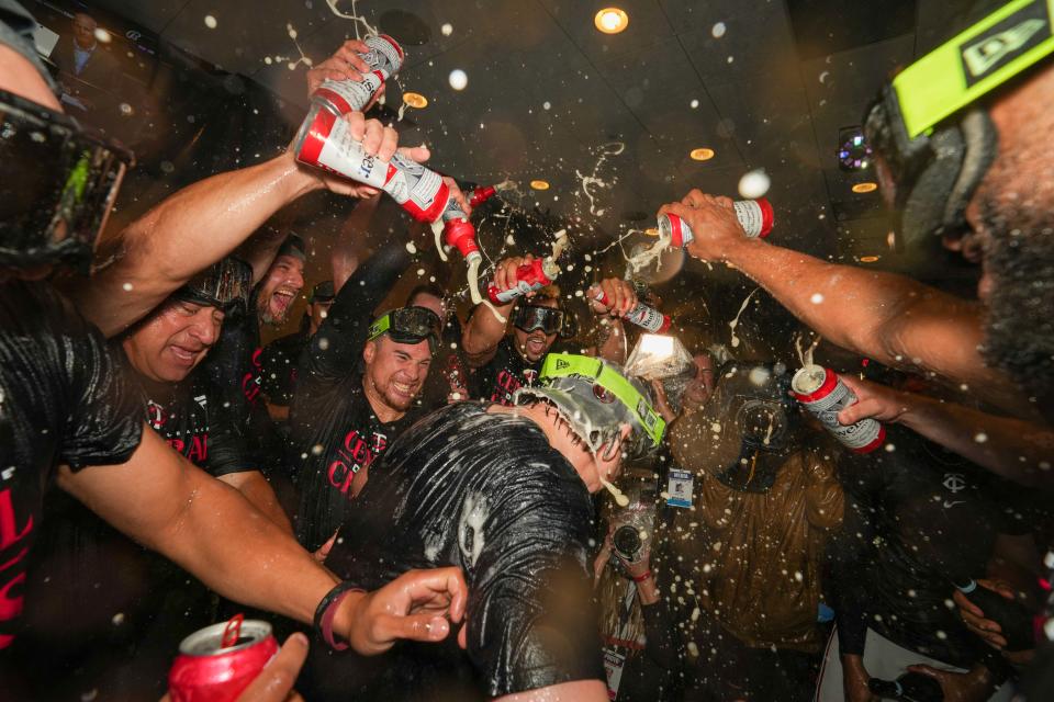
[(402, 246), (370, 257), (337, 293), (301, 355), (287, 465), (301, 490), (296, 537), (309, 551), (340, 526), (350, 510), (355, 474), (370, 466), (421, 415), (413, 408), (397, 421), (381, 422), (363, 394), (360, 372), (372, 310), (408, 262)]

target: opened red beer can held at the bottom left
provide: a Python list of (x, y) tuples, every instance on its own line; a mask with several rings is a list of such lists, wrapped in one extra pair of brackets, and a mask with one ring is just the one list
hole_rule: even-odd
[(238, 619), (199, 630), (179, 644), (168, 673), (172, 702), (234, 702), (277, 653), (271, 625), (264, 621)]

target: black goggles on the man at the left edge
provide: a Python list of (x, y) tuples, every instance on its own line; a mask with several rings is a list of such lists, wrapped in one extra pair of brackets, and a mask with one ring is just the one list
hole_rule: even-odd
[(0, 90), (0, 265), (88, 272), (132, 152)]

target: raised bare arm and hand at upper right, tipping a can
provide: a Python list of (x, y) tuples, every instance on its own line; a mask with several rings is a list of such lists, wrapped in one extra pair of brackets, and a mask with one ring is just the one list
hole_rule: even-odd
[(693, 190), (665, 205), (688, 223), (688, 252), (727, 261), (825, 339), (885, 365), (922, 369), (966, 383), (987, 399), (1020, 410), (1021, 394), (985, 366), (983, 308), (902, 275), (838, 265), (750, 239), (731, 201)]

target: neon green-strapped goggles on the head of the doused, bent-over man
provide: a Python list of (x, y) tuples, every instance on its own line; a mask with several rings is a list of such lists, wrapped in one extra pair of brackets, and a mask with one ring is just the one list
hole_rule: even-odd
[[(591, 407), (612, 406), (618, 400), (628, 418), (637, 420), (654, 446), (662, 442), (666, 430), (666, 421), (654, 410), (648, 398), (633, 384), (627, 381), (618, 371), (612, 369), (599, 359), (573, 353), (550, 353), (541, 364), (539, 380), (542, 385), (560, 387), (559, 378), (571, 377), (592, 383), (593, 398), (575, 396), (569, 388), (564, 389), (568, 399), (575, 410), (585, 417), (593, 417)], [(585, 403), (583, 403), (585, 399)], [(618, 412), (621, 414), (621, 412)], [(617, 417), (615, 419), (618, 419)]]

